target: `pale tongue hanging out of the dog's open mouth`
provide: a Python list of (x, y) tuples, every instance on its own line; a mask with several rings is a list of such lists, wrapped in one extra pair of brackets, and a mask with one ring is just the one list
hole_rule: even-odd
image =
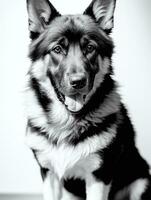
[(84, 104), (83, 95), (74, 95), (74, 96), (66, 96), (65, 97), (65, 105), (68, 110), (72, 112), (78, 112), (82, 109)]

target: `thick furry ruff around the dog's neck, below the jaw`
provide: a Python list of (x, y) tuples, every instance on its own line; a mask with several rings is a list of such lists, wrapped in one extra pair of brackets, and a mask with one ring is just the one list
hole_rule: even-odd
[[(40, 66), (38, 67), (36, 69), (40, 70)], [(34, 72), (31, 70), (30, 73)], [(36, 77), (35, 74), (37, 75)], [(92, 102), (90, 98), (90, 101), (88, 101), (88, 104), (85, 105), (84, 110), (79, 115), (70, 113), (65, 104), (59, 100), (48, 76), (44, 75), (43, 77), (38, 77), (38, 73), (35, 72), (34, 77), (38, 80), (40, 96), (44, 98), (46, 94), (49, 101), (47, 101), (47, 108), (42, 110), (42, 106), (39, 105), (41, 102), (37, 99), (37, 95), (34, 94), (35, 91), (32, 86), (32, 89), (29, 89), (27, 92), (30, 98), (26, 98), (28, 100), (27, 110), (29, 110), (28, 119), (33, 125), (43, 130), (49, 138), (53, 138), (54, 141), (57, 141), (57, 143), (66, 138), (70, 138), (73, 132), (76, 132), (75, 135), (84, 132), (89, 128), (90, 124), (94, 127), (98, 126), (105, 118), (117, 113), (120, 109), (120, 96), (116, 91), (115, 83), (110, 75), (107, 76), (107, 79), (111, 81), (110, 87), (105, 84), (104, 80), (104, 83), (96, 88), (94, 92), (96, 96), (93, 97), (92, 93)], [(109, 80), (107, 80), (107, 82), (109, 82)], [(101, 93), (102, 91), (106, 92), (103, 94)], [(97, 99), (97, 102), (94, 102), (93, 98)], [(95, 104), (92, 110), (91, 103)], [(31, 107), (29, 105), (31, 105)]]

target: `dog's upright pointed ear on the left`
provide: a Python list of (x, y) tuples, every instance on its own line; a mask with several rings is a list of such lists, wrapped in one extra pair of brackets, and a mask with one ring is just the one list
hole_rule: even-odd
[(27, 0), (27, 10), (32, 39), (37, 37), (52, 19), (60, 16), (48, 0)]

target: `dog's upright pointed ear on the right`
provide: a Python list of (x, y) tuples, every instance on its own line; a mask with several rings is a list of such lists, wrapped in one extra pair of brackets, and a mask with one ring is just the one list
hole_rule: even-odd
[(93, 0), (84, 14), (90, 15), (106, 33), (110, 33), (113, 28), (115, 4), (116, 0)]

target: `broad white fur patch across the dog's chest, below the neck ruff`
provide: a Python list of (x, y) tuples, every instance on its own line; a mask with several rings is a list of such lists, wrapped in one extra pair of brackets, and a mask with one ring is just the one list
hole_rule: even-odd
[(66, 143), (55, 146), (43, 136), (28, 133), (27, 144), (37, 150), (40, 165), (53, 171), (59, 179), (66, 176), (85, 178), (102, 162), (96, 152), (108, 146), (114, 136), (115, 129), (112, 127), (109, 132), (102, 132), (74, 147)]

